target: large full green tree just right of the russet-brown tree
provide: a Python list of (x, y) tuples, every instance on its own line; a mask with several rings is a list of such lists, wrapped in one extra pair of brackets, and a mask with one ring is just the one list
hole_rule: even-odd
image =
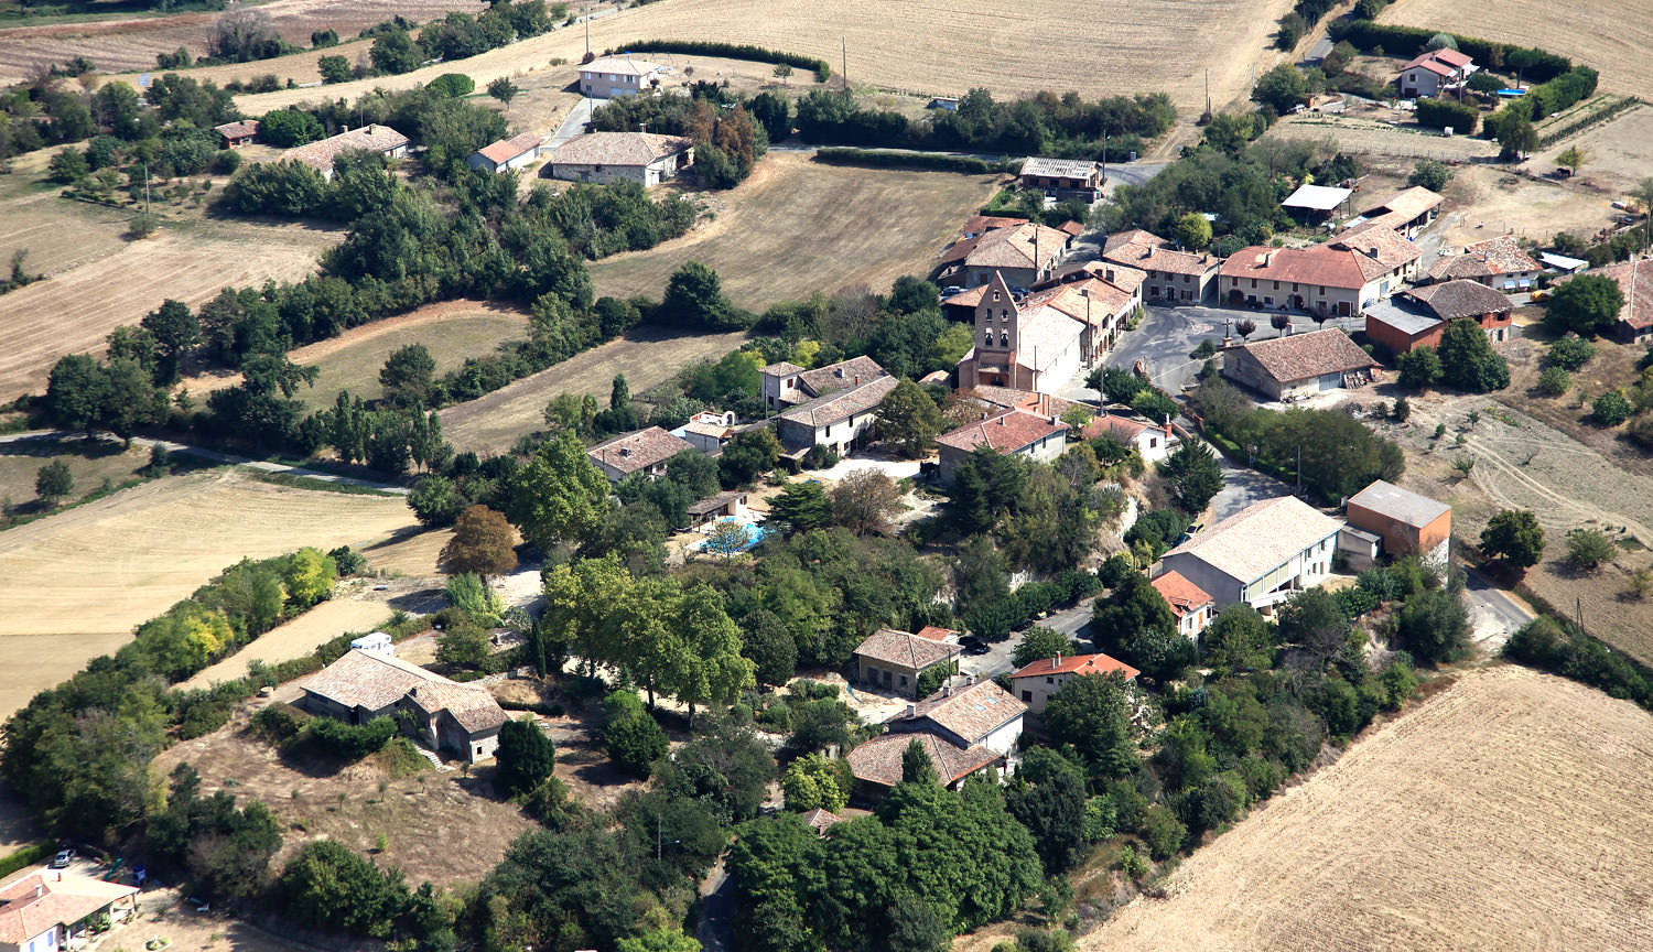
[(524, 539), (549, 550), (557, 542), (590, 537), (607, 512), (607, 497), (608, 479), (585, 455), (580, 438), (564, 430), (541, 443), (511, 478), (506, 516)]

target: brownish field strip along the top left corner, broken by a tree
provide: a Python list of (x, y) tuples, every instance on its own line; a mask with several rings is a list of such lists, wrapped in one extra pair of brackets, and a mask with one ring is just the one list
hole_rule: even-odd
[[(91, 13), (98, 13), (99, 7), (101, 3), (88, 3)], [(131, 10), (131, 5), (126, 7)], [(314, 30), (331, 26), (341, 40), (350, 40), (364, 28), (398, 13), (425, 21), (450, 10), (476, 13), (484, 7), (479, 0), (271, 0), (260, 3), (256, 10), (269, 18), (269, 26), (286, 41), (309, 46)], [(43, 66), (68, 63), (74, 56), (89, 58), (104, 73), (154, 69), (157, 55), (172, 53), (179, 46), (188, 48), (192, 56), (203, 56), (220, 17), (222, 13), (175, 13), (48, 21), (0, 30), (0, 83), (26, 79)]]

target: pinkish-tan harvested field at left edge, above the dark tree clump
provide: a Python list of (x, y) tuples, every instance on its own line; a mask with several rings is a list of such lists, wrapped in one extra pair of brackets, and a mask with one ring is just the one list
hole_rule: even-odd
[(104, 336), (167, 298), (198, 306), (223, 288), (296, 281), (342, 231), (241, 225), (162, 231), (0, 298), (0, 402), (46, 388), (66, 354), (101, 354)]

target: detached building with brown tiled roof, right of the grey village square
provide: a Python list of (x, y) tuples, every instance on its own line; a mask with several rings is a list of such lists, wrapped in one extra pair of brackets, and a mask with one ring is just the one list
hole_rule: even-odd
[(1334, 327), (1255, 340), (1223, 352), (1223, 377), (1270, 400), (1301, 400), (1321, 390), (1364, 387), (1380, 364)]

